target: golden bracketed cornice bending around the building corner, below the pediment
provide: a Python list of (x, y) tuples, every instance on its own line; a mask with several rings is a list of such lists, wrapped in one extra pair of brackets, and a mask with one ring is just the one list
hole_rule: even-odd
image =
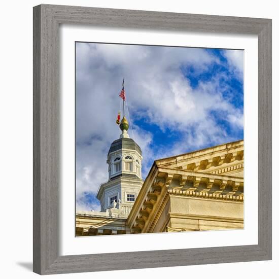
[(152, 166), (127, 219), (132, 233), (152, 231), (168, 196), (243, 202), (243, 178)]

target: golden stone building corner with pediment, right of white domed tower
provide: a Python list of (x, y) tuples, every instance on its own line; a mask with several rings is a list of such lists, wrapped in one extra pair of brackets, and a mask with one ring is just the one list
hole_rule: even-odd
[(132, 233), (243, 228), (243, 141), (154, 162)]

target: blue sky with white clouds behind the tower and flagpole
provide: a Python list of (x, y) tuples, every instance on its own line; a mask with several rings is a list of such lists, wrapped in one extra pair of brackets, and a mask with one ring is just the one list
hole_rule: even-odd
[(123, 77), (144, 178), (155, 159), (243, 138), (242, 50), (77, 43), (78, 210), (99, 210)]

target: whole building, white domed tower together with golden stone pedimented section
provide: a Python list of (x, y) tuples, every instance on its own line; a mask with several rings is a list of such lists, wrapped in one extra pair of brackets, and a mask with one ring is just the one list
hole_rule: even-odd
[(156, 160), (143, 182), (141, 149), (124, 130), (107, 162), (101, 212), (78, 211), (77, 236), (243, 228), (243, 141)]

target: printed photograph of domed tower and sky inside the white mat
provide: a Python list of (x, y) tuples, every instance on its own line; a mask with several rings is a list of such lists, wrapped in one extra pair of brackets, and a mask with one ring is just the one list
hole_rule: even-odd
[(76, 236), (244, 228), (243, 55), (75, 42)]

